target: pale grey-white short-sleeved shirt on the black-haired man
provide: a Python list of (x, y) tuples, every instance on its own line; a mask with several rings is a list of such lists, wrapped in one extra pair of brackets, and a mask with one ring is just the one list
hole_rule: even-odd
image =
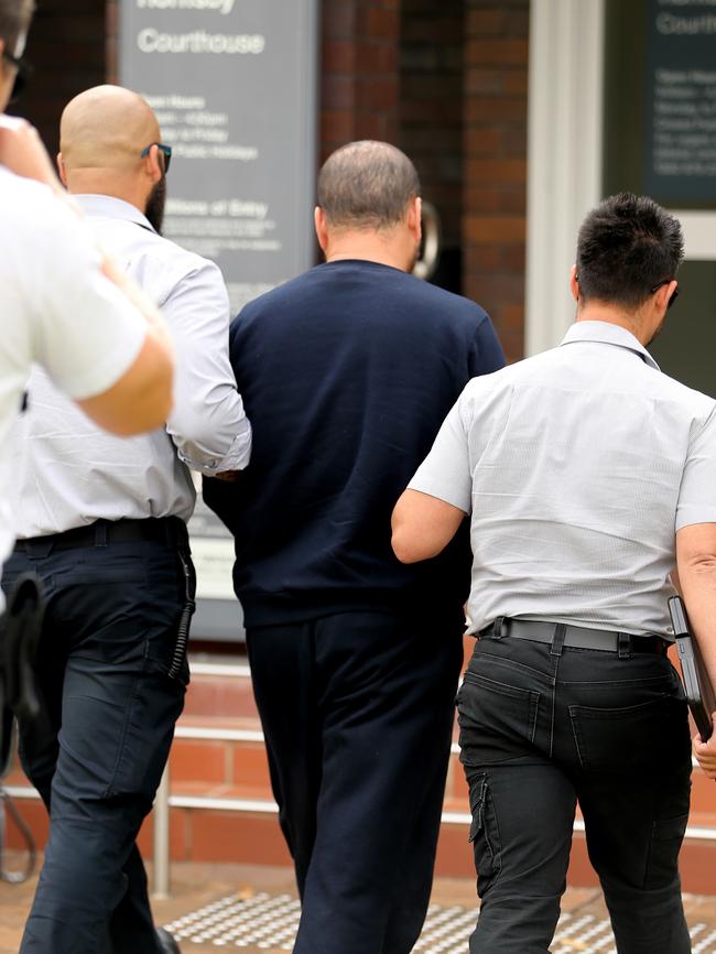
[(670, 633), (675, 531), (716, 522), (716, 402), (625, 328), (470, 381), (410, 487), (470, 513), (468, 631), (499, 616)]

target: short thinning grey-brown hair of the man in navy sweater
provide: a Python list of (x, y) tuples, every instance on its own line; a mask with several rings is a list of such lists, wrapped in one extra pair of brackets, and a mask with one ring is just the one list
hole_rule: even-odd
[(388, 142), (349, 142), (318, 174), (318, 205), (334, 228), (392, 228), (419, 195), (415, 166)]

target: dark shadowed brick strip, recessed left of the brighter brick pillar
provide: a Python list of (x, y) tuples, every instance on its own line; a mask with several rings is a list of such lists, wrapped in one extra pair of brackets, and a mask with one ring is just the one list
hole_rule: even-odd
[(459, 292), (463, 204), (463, 0), (402, 0), (400, 139), (438, 210), (438, 284)]

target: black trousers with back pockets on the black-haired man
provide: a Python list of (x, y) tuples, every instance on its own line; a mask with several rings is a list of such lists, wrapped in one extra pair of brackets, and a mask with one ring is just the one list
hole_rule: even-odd
[(482, 900), (471, 954), (547, 954), (577, 801), (619, 954), (688, 954), (691, 739), (669, 659), (482, 638), (458, 714)]

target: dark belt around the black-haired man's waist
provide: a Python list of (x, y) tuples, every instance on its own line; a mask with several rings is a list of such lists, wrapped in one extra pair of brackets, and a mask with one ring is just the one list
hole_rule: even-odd
[(660, 636), (633, 636), (630, 632), (617, 632), (614, 629), (588, 629), (585, 626), (572, 624), (547, 622), (546, 620), (509, 619), (498, 617), (493, 624), (481, 630), (481, 637), (500, 639), (510, 636), (514, 639), (528, 639), (532, 642), (552, 644), (557, 636), (557, 628), (564, 630), (562, 646), (572, 649), (598, 649), (603, 652), (652, 652), (664, 655), (669, 643)]

